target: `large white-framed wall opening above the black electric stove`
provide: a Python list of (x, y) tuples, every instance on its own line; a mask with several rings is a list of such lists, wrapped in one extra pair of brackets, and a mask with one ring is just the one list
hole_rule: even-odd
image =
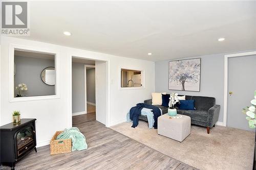
[(56, 95), (55, 54), (14, 49), (14, 98)]

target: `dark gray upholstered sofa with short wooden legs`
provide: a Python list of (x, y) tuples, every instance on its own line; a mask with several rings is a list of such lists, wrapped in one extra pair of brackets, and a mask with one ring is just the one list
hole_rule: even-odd
[[(210, 133), (210, 128), (214, 127), (218, 121), (220, 113), (220, 105), (215, 104), (215, 98), (205, 96), (191, 96), (186, 95), (186, 100), (195, 100), (196, 110), (180, 110), (177, 109), (178, 114), (187, 115), (191, 118), (191, 124), (204, 126), (207, 129), (207, 133)], [(152, 99), (145, 100), (145, 104), (152, 105)], [(168, 112), (167, 107), (156, 105), (162, 109), (163, 114)], [(139, 119), (146, 120), (146, 116), (139, 116)]]

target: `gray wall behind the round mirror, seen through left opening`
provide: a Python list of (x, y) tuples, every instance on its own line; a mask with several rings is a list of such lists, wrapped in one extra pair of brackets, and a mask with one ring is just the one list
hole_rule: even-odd
[(16, 74), (14, 76), (14, 95), (17, 90), (15, 87), (20, 83), (25, 83), (28, 90), (24, 96), (54, 95), (55, 86), (49, 86), (42, 82), (41, 71), (46, 67), (54, 67), (54, 60), (15, 56)]

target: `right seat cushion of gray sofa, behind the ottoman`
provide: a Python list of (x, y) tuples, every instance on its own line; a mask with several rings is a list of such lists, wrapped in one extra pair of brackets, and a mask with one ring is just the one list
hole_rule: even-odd
[(209, 121), (208, 111), (203, 111), (203, 110), (179, 110), (179, 109), (177, 109), (177, 113), (189, 116), (191, 118), (191, 120), (196, 120), (196, 121), (204, 122), (204, 123), (208, 123), (208, 121)]

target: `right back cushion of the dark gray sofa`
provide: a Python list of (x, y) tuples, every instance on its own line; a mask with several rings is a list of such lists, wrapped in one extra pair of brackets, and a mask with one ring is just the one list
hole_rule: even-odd
[(186, 95), (186, 100), (195, 100), (196, 110), (208, 111), (209, 108), (215, 105), (215, 98), (205, 96), (190, 96)]

